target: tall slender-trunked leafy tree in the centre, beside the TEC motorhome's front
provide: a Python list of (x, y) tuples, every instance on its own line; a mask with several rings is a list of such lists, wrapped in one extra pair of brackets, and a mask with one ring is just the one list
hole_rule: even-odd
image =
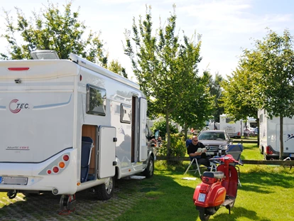
[(124, 46), (125, 54), (131, 59), (134, 75), (147, 97), (148, 115), (165, 116), (167, 156), (170, 156), (170, 118), (183, 104), (190, 102), (192, 96), (199, 96), (195, 92), (199, 78), (197, 63), (201, 60), (200, 36), (189, 39), (184, 34), (183, 43), (180, 43), (179, 36), (175, 35), (176, 18), (173, 11), (165, 26), (158, 28), (155, 33), (149, 6), (145, 20), (140, 16), (137, 26), (134, 18), (132, 33), (125, 32)]

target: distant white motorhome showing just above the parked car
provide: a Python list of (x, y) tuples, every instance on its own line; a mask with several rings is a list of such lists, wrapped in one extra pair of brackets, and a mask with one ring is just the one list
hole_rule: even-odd
[(231, 137), (241, 138), (242, 135), (242, 122), (233, 122), (227, 114), (219, 115), (219, 129), (227, 131)]

